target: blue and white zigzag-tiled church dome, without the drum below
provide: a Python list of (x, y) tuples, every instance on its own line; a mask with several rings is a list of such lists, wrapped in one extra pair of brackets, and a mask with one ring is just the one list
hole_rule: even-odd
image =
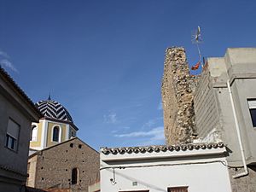
[(43, 113), (44, 117), (67, 120), (73, 123), (73, 119), (67, 109), (64, 108), (61, 103), (52, 101), (50, 97), (46, 101), (37, 102), (36, 107)]

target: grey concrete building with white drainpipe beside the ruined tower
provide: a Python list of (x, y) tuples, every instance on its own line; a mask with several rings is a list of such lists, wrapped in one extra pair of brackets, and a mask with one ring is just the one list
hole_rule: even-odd
[(208, 58), (195, 90), (195, 122), (204, 142), (223, 141), (233, 191), (256, 190), (256, 49)]

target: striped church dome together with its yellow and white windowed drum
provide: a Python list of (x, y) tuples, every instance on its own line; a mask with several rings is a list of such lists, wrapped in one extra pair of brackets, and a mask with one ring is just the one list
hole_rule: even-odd
[(47, 100), (37, 102), (36, 107), (44, 117), (39, 123), (32, 123), (31, 149), (41, 150), (76, 137), (79, 128), (61, 103), (49, 96)]

